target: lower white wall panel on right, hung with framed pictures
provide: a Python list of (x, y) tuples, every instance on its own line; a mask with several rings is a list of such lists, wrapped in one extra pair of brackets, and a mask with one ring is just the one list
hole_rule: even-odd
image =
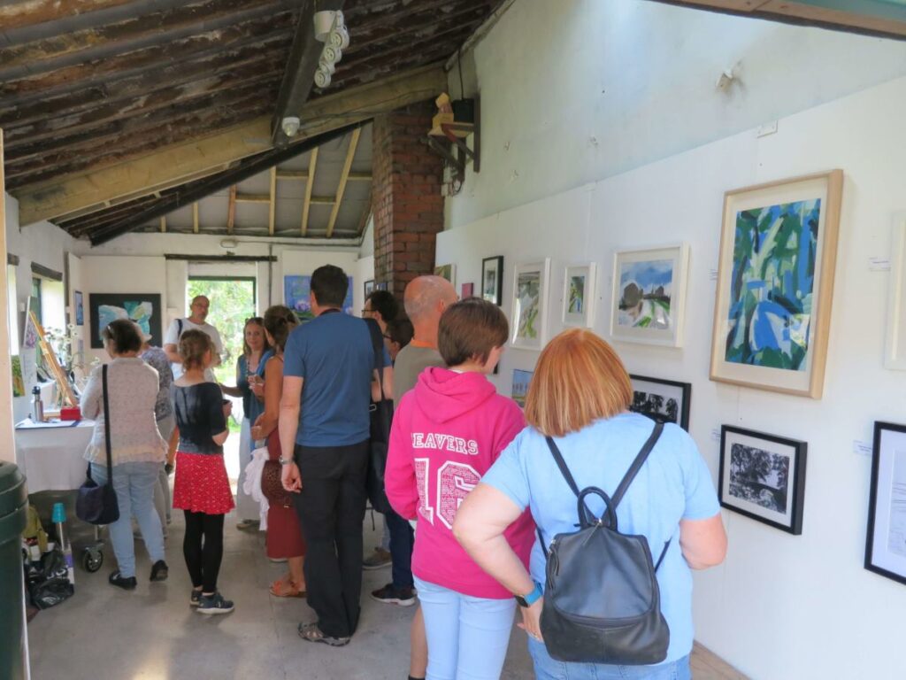
[[(518, 5), (518, 3), (517, 3)], [(717, 478), (721, 424), (808, 442), (805, 522), (790, 536), (725, 511), (730, 548), (697, 573), (697, 638), (756, 680), (906, 677), (898, 650), (906, 587), (863, 569), (872, 423), (906, 422), (906, 380), (882, 367), (892, 219), (906, 208), (906, 77), (788, 116), (776, 135), (748, 130), (611, 178), (498, 212), (439, 235), (438, 261), (478, 281), (481, 258), (504, 255), (509, 314), (516, 262), (552, 258), (549, 335), (562, 329), (564, 267), (599, 265), (595, 330), (608, 336), (612, 256), (683, 240), (691, 248), (683, 348), (616, 344), (631, 372), (693, 384), (691, 434)], [(845, 172), (839, 261), (824, 398), (708, 381), (718, 239), (725, 190), (817, 170)], [(484, 171), (482, 172), (484, 177)], [(458, 284), (459, 285), (459, 284)], [(536, 353), (509, 349), (497, 379)]]

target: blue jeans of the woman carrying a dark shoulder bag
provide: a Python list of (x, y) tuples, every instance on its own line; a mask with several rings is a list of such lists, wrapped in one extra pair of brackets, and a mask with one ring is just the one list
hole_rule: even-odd
[[(120, 519), (110, 525), (113, 554), (124, 578), (135, 576), (135, 542), (132, 516), (139, 522), (141, 538), (151, 562), (164, 559), (164, 535), (160, 517), (154, 509), (154, 487), (158, 483), (159, 462), (123, 462), (113, 466), (113, 491), (120, 505)], [(107, 466), (92, 462), (92, 479), (107, 483)]]

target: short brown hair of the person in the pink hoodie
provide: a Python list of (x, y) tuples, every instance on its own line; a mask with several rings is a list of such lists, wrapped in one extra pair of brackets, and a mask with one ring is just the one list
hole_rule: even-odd
[(509, 324), (500, 307), (479, 297), (454, 303), (440, 316), (438, 351), (448, 366), (470, 359), (484, 364), (491, 350), (506, 345)]

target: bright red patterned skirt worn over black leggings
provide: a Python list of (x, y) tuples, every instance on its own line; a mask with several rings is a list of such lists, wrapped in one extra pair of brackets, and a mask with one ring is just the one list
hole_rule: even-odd
[(236, 507), (223, 455), (176, 452), (173, 507), (206, 515), (226, 515)]

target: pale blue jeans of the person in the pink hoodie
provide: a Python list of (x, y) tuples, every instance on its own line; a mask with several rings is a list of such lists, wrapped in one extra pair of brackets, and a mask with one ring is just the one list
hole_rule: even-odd
[(427, 680), (498, 680), (516, 600), (470, 597), (415, 578), (428, 636)]

